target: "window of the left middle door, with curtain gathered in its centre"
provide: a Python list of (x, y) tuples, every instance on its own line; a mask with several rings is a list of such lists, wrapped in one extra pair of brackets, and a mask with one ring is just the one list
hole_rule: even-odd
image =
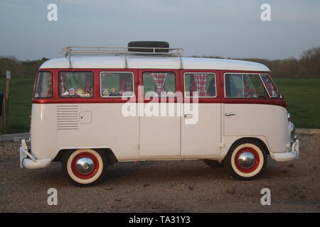
[(144, 72), (142, 80), (144, 96), (176, 95), (176, 74), (174, 72)]

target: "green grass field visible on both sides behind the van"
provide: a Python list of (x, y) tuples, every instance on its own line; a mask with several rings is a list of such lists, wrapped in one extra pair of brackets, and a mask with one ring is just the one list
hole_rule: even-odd
[[(289, 104), (297, 128), (320, 128), (320, 79), (274, 79)], [(10, 81), (9, 133), (30, 130), (33, 77), (14, 77)], [(4, 92), (5, 79), (0, 79)]]

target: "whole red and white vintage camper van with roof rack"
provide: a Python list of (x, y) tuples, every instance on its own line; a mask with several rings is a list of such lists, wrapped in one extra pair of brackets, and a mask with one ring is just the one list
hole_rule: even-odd
[[(297, 159), (299, 140), (268, 67), (181, 57), (174, 48), (143, 50), (151, 52), (66, 48), (65, 57), (44, 62), (21, 167), (62, 162), (73, 183), (90, 185), (116, 162), (204, 160), (224, 165), (237, 179), (254, 179), (267, 155)], [(151, 103), (166, 109), (148, 114), (156, 112)], [(193, 109), (182, 107), (193, 103)], [(124, 113), (129, 104), (136, 114)]]

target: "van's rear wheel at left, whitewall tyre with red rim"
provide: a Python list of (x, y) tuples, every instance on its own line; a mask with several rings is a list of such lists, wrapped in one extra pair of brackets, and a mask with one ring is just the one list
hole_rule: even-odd
[(107, 172), (107, 157), (92, 149), (68, 151), (62, 158), (63, 172), (77, 186), (91, 186)]

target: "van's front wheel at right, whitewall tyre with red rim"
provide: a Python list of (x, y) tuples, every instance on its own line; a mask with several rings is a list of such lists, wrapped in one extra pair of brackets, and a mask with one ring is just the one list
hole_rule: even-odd
[(240, 140), (233, 144), (226, 155), (225, 167), (240, 180), (255, 179), (267, 167), (267, 151), (255, 140)]

